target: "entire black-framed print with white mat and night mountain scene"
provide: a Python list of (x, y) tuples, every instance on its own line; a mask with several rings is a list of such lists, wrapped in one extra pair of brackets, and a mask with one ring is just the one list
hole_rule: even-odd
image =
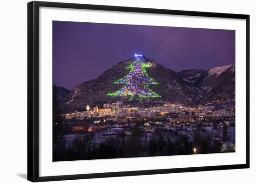
[(29, 181), (249, 168), (249, 15), (27, 7)]

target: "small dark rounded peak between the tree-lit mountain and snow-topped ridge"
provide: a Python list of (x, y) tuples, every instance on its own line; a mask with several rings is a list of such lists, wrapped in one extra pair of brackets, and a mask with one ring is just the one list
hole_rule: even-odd
[(184, 81), (195, 83), (205, 73), (206, 71), (203, 69), (190, 69), (190, 70), (182, 70), (177, 74), (181, 76)]

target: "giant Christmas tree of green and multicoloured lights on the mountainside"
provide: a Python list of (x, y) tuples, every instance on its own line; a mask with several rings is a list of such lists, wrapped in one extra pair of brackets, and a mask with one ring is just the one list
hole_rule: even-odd
[(130, 96), (129, 101), (133, 99), (135, 95), (139, 98), (155, 98), (160, 97), (152, 91), (148, 85), (158, 84), (152, 78), (150, 78), (146, 72), (146, 68), (150, 65), (147, 63), (142, 63), (140, 57), (142, 55), (135, 54), (136, 60), (125, 69), (130, 69), (128, 75), (114, 82), (115, 84), (125, 84), (120, 90), (109, 93), (108, 96)]

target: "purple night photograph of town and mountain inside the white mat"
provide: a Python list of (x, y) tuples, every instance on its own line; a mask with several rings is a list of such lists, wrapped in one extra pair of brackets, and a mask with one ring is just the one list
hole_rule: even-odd
[(236, 30), (52, 25), (54, 162), (236, 152)]

